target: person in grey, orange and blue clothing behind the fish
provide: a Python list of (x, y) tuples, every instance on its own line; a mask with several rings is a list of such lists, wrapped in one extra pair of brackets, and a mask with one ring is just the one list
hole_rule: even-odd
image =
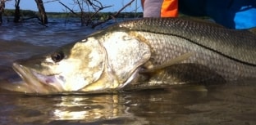
[[(144, 17), (209, 16), (230, 29), (256, 27), (256, 0), (142, 0)], [(179, 9), (178, 9), (179, 8)]]

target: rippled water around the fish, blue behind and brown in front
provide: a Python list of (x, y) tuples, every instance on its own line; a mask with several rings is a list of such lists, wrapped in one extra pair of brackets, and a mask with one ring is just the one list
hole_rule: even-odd
[[(17, 59), (52, 51), (95, 29), (51, 20), (0, 26), (0, 84)], [(36, 96), (0, 90), (0, 124), (256, 124), (256, 82), (172, 86), (119, 94)]]

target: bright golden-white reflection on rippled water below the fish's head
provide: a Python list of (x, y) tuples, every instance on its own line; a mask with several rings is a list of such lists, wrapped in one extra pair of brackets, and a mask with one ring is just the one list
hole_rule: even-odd
[(55, 120), (116, 118), (121, 114), (118, 95), (62, 96), (53, 111)]

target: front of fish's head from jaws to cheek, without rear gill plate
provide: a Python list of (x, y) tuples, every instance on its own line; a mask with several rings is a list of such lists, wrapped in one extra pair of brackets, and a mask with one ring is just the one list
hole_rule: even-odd
[(17, 60), (13, 69), (31, 92), (73, 92), (100, 78), (105, 56), (97, 40), (86, 38), (43, 56)]

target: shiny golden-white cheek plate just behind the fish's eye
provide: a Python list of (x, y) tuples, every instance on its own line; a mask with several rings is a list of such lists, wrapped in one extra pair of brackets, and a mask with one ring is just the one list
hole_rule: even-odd
[(76, 42), (70, 56), (57, 66), (65, 82), (66, 91), (77, 91), (94, 83), (103, 74), (105, 51), (94, 38)]

